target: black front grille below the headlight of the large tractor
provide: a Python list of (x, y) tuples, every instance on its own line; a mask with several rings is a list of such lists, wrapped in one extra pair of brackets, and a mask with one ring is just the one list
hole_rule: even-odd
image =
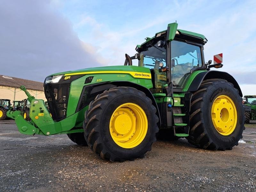
[(44, 86), (45, 97), (55, 121), (60, 121), (66, 117), (69, 90), (70, 83), (46, 84)]

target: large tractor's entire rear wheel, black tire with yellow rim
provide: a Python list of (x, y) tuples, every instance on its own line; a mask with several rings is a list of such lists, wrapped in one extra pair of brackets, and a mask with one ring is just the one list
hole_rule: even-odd
[(244, 108), (233, 84), (223, 79), (202, 82), (191, 99), (188, 141), (205, 149), (232, 149), (243, 138)]

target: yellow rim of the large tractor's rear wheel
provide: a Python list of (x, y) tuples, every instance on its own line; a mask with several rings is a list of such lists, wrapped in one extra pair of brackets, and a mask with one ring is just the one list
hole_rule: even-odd
[(212, 123), (221, 135), (230, 135), (236, 128), (237, 111), (227, 95), (218, 96), (212, 104)]

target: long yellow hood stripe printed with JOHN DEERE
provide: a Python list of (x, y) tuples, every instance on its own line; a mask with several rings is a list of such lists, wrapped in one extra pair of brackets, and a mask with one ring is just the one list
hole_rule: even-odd
[(105, 74), (105, 73), (130, 74), (135, 78), (151, 79), (151, 73), (134, 72), (134, 71), (89, 71), (89, 72), (67, 73), (64, 76)]

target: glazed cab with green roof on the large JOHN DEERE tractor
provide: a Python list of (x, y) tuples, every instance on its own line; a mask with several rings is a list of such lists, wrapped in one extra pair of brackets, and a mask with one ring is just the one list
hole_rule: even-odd
[(138, 59), (138, 66), (149, 68), (152, 93), (162, 93), (165, 84), (181, 90), (192, 72), (207, 69), (203, 57), (207, 39), (203, 35), (168, 28), (145, 39), (146, 42), (136, 46), (138, 53), (135, 56), (129, 58), (126, 55), (124, 65), (132, 65), (131, 60)]

